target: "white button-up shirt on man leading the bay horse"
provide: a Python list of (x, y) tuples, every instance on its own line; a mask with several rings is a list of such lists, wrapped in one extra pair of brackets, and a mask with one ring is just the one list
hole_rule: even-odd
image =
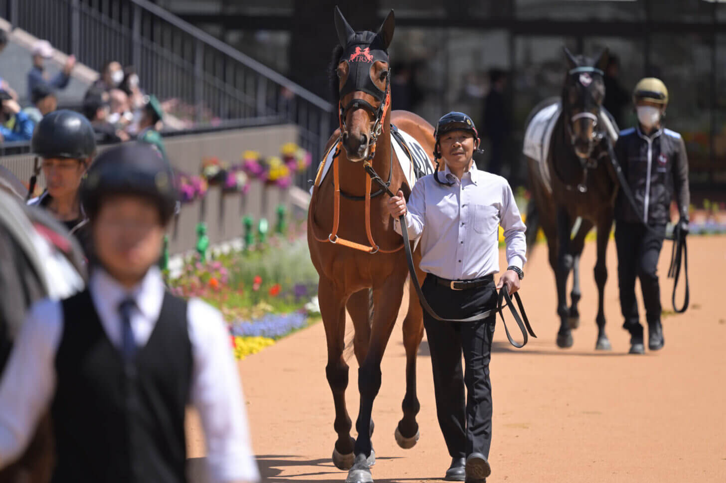
[[(502, 176), (476, 169), (458, 179), (446, 166), (416, 181), (407, 202), (409, 238), (421, 241), (421, 269), (449, 280), (470, 280), (499, 271), (499, 225), (504, 228), (507, 262), (526, 262), (525, 226), (509, 183)], [(401, 233), (398, 220), (393, 229)]]

